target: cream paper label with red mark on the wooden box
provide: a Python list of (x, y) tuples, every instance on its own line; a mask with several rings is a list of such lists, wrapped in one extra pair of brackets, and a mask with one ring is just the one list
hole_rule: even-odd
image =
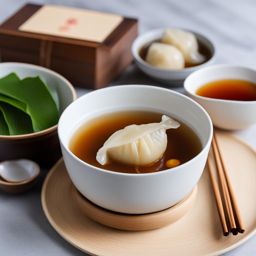
[(122, 20), (122, 16), (114, 14), (45, 5), (19, 30), (101, 43)]

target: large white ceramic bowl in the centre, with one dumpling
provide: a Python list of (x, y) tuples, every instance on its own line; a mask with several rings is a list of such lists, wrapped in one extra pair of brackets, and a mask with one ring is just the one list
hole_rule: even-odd
[[(183, 165), (149, 174), (100, 169), (70, 151), (70, 139), (81, 124), (103, 113), (130, 109), (162, 112), (185, 121), (199, 136), (202, 151)], [(199, 104), (182, 94), (153, 86), (125, 85), (100, 89), (76, 100), (63, 112), (58, 134), (70, 178), (86, 198), (109, 210), (141, 214), (166, 209), (193, 190), (205, 166), (212, 123)]]

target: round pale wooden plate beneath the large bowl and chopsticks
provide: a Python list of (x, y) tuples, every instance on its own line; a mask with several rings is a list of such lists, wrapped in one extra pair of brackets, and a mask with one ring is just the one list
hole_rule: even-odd
[(230, 136), (218, 133), (221, 150), (236, 192), (246, 231), (222, 235), (214, 196), (205, 170), (194, 207), (179, 221), (151, 231), (121, 231), (90, 220), (72, 197), (73, 185), (59, 162), (42, 190), (43, 210), (53, 228), (69, 243), (92, 255), (219, 255), (256, 233), (256, 153)]

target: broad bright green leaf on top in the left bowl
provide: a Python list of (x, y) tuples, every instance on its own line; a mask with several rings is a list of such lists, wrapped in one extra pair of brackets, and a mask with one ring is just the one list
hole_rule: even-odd
[(19, 80), (11, 73), (0, 79), (0, 93), (21, 101), (32, 119), (34, 131), (47, 129), (58, 122), (59, 113), (47, 86), (39, 77)]

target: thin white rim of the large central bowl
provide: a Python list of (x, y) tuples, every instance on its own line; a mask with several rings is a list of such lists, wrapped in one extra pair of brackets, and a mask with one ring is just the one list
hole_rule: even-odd
[[(85, 165), (85, 166), (89, 166), (90, 168), (93, 168), (97, 171), (100, 171), (100, 172), (104, 172), (104, 173), (109, 173), (109, 174), (114, 174), (114, 175), (120, 175), (120, 176), (136, 176), (136, 177), (145, 177), (145, 176), (149, 176), (149, 175), (159, 175), (159, 173), (167, 173), (169, 171), (178, 171), (180, 168), (182, 168), (184, 165), (187, 165), (189, 164), (190, 162), (192, 161), (195, 161), (197, 158), (199, 158), (202, 154), (203, 154), (203, 151), (208, 147), (209, 144), (211, 144), (211, 140), (212, 140), (212, 136), (213, 136), (213, 124), (212, 124), (212, 121), (211, 121), (211, 118), (209, 116), (209, 114), (206, 112), (206, 110), (199, 104), (197, 103), (196, 101), (194, 101), (193, 99), (189, 98), (188, 96), (185, 96), (179, 92), (176, 92), (176, 91), (173, 91), (173, 90), (168, 90), (168, 89), (165, 89), (165, 88), (161, 88), (161, 87), (157, 87), (157, 86), (152, 86), (152, 85), (134, 85), (134, 84), (126, 84), (126, 85), (119, 85), (118, 87), (117, 86), (110, 86), (110, 87), (106, 87), (106, 88), (101, 88), (101, 89), (98, 89), (96, 91), (92, 91), (90, 93), (87, 93), (86, 95), (80, 97), (79, 99), (77, 99), (75, 102), (72, 102), (68, 107), (72, 106), (73, 104), (79, 104), (80, 101), (82, 101), (85, 97), (90, 97), (90, 95), (93, 95), (93, 94), (97, 94), (97, 93), (101, 93), (102, 90), (115, 90), (115, 88), (124, 88), (124, 87), (129, 87), (129, 88), (152, 88), (152, 89), (157, 89), (157, 90), (161, 90), (161, 91), (164, 91), (166, 93), (171, 93), (171, 94), (175, 94), (176, 96), (178, 97), (182, 97), (183, 99), (186, 99), (187, 101), (189, 101), (191, 104), (194, 104), (196, 105), (200, 111), (202, 111), (202, 113), (205, 115), (207, 121), (208, 121), (208, 124), (209, 124), (209, 136), (207, 138), (207, 141), (205, 143), (205, 145), (202, 145), (202, 149), (200, 150), (200, 152), (194, 156), (192, 159), (190, 159), (189, 161), (177, 166), (177, 167), (173, 167), (171, 169), (166, 169), (166, 170), (162, 170), (161, 172), (150, 172), (150, 173), (140, 173), (139, 175), (137, 173), (122, 173), (122, 172), (115, 172), (115, 171), (111, 171), (111, 170), (107, 170), (107, 169), (104, 169), (104, 168), (100, 168), (100, 167), (97, 167), (97, 166), (94, 166), (94, 165), (91, 165), (83, 160), (81, 160), (79, 157), (77, 157), (68, 147), (68, 145), (65, 145), (65, 143), (62, 142), (62, 139), (61, 139), (61, 135), (59, 133), (59, 126), (58, 126), (58, 135), (59, 135), (59, 140), (60, 140), (60, 143), (62, 144), (62, 146), (65, 148), (65, 150), (71, 155), (71, 157), (75, 158), (77, 161), (79, 161), (81, 164)], [(65, 112), (67, 111), (68, 107), (63, 111), (61, 117), (60, 117), (60, 120), (59, 120), (59, 123), (61, 123), (61, 120), (63, 118), (63, 116), (65, 115)], [(195, 132), (195, 131), (194, 131)], [(196, 132), (195, 132), (196, 133)], [(198, 136), (198, 134), (196, 133), (196, 135)], [(68, 143), (66, 143), (68, 144)]]

